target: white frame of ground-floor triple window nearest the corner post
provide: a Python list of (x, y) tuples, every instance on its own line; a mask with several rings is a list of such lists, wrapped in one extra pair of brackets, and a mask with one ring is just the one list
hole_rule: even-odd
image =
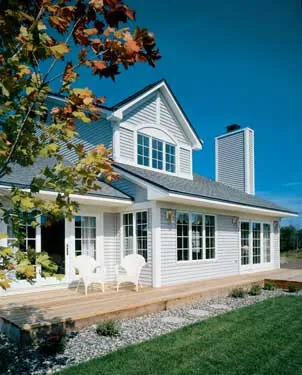
[[(181, 214), (188, 214), (189, 215), (189, 260), (178, 260), (177, 259), (177, 213)], [(202, 259), (192, 259), (192, 215), (202, 215)], [(205, 227), (205, 217), (206, 216), (213, 216), (215, 218), (215, 257), (214, 258), (208, 258), (206, 259), (206, 227)], [(176, 215), (175, 215), (175, 220), (176, 220), (176, 263), (185, 265), (185, 264), (196, 264), (196, 263), (211, 263), (215, 262), (218, 260), (217, 256), (217, 215), (215, 214), (209, 214), (209, 213), (203, 213), (203, 212), (196, 212), (196, 211), (182, 211), (182, 210), (176, 210)]]

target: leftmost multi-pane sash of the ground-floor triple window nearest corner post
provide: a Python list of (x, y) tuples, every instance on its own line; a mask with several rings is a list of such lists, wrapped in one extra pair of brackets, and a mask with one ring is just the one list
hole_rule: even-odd
[(189, 214), (177, 212), (177, 260), (189, 260)]

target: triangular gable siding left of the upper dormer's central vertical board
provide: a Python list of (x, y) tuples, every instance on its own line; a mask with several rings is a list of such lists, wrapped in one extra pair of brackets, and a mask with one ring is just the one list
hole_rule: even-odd
[(131, 108), (124, 115), (123, 121), (133, 125), (152, 124), (156, 122), (156, 94), (148, 96), (145, 100)]

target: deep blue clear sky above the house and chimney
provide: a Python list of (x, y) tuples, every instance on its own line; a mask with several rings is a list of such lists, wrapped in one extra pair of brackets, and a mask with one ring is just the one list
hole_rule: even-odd
[[(166, 78), (204, 149), (195, 171), (214, 177), (214, 137), (238, 123), (255, 130), (256, 191), (302, 211), (302, 7), (300, 0), (195, 0), (125, 2), (137, 24), (155, 33), (162, 60), (141, 65), (116, 83), (80, 85), (107, 104)], [(302, 220), (285, 223), (302, 226)]]

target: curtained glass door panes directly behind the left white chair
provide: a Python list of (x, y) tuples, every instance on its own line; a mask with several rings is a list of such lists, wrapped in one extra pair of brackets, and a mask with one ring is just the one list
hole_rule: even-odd
[(95, 216), (76, 216), (75, 254), (96, 258), (96, 218)]

